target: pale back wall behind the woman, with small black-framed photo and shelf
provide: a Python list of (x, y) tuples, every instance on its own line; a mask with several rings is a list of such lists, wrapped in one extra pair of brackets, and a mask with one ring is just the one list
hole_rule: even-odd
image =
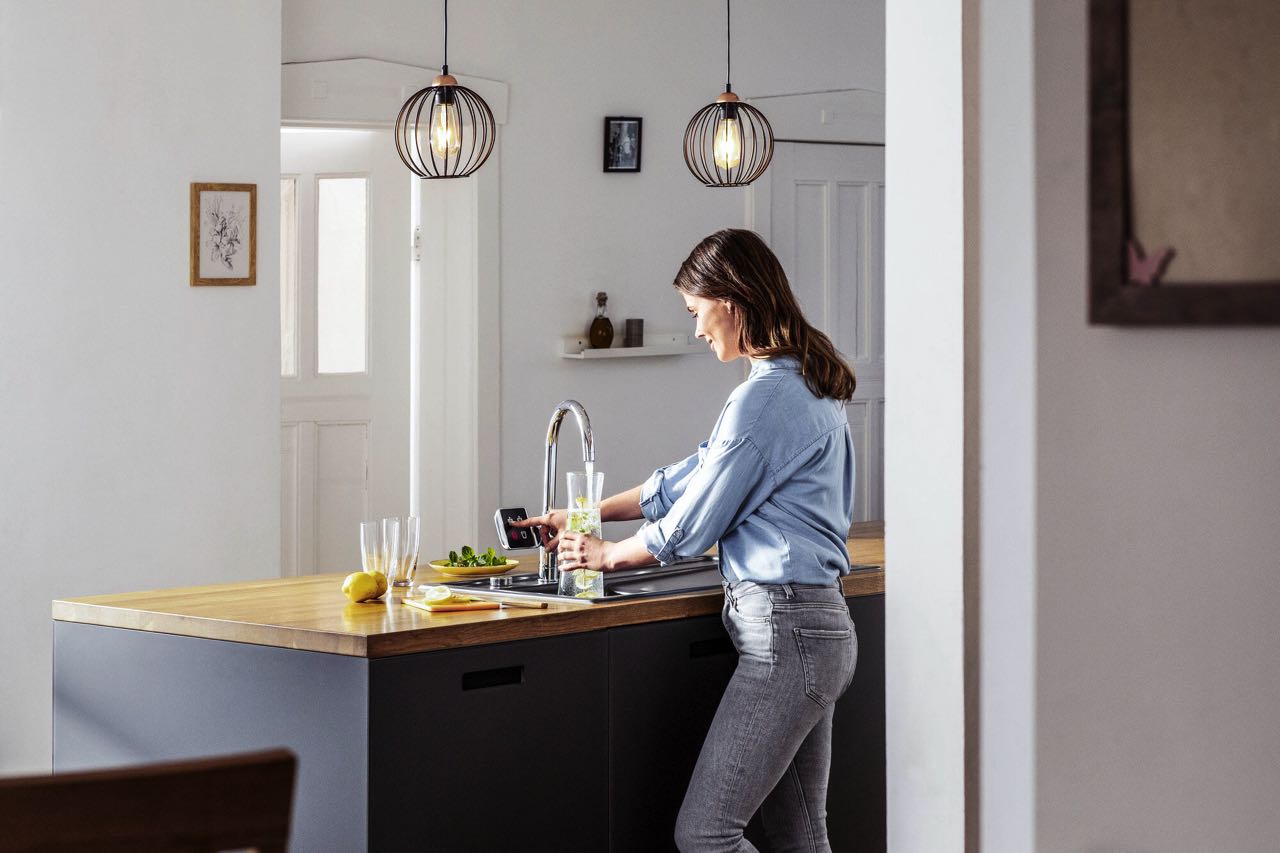
[[(740, 0), (733, 10), (739, 93), (883, 91), (882, 3)], [(556, 355), (561, 336), (585, 332), (602, 289), (618, 338), (628, 316), (650, 332), (691, 330), (671, 279), (701, 237), (744, 223), (748, 192), (703, 188), (680, 152), (689, 118), (723, 87), (723, 4), (682, 0), (451, 9), (451, 70), (511, 86), (500, 141), (504, 503), (540, 506), (541, 444), (559, 400), (586, 406), (612, 491), (691, 452), (741, 379), (709, 353), (608, 364)], [(284, 60), (429, 65), (440, 61), (440, 31), (433, 3), (285, 0)], [(639, 174), (600, 172), (605, 115), (644, 118)], [(562, 469), (571, 460), (566, 444)]]

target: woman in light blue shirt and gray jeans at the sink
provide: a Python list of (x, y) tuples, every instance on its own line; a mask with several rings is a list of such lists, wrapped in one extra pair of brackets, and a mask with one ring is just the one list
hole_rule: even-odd
[(754, 850), (742, 831), (760, 809), (774, 850), (826, 852), (831, 719), (858, 658), (840, 588), (854, 508), (844, 407), (854, 374), (805, 321), (782, 265), (753, 232), (700, 242), (675, 286), (698, 337), (721, 361), (749, 359), (749, 378), (696, 453), (602, 502), (603, 520), (649, 521), (630, 539), (559, 533), (563, 511), (529, 524), (544, 525), (562, 569), (668, 562), (719, 543), (723, 619), (739, 663), (676, 843), (685, 853)]

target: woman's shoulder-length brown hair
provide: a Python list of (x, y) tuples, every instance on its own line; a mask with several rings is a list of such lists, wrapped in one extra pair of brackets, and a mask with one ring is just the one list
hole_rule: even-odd
[(746, 355), (794, 356), (814, 396), (841, 401), (854, 396), (852, 369), (804, 319), (782, 264), (755, 232), (717, 231), (694, 246), (673, 284), (690, 296), (731, 304), (742, 319), (737, 346)]

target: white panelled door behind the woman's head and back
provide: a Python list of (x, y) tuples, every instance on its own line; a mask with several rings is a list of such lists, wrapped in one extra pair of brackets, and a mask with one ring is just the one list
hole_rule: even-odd
[(858, 450), (854, 520), (883, 519), (884, 149), (778, 142), (753, 205), (805, 316), (858, 375), (846, 407)]

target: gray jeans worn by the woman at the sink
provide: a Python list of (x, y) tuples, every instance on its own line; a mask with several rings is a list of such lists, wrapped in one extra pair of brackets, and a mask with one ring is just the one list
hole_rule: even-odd
[(858, 663), (835, 584), (724, 587), (737, 669), (698, 756), (676, 821), (682, 853), (748, 853), (756, 809), (773, 853), (829, 853), (831, 717)]

